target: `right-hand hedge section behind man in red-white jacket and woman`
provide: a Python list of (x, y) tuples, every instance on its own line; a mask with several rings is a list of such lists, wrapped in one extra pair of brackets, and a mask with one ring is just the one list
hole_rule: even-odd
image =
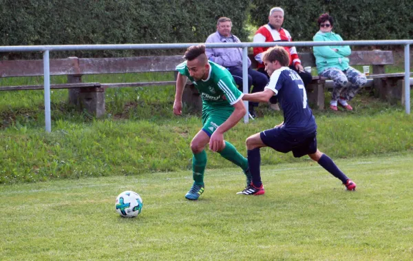
[(284, 25), (294, 41), (312, 41), (319, 30), (317, 19), (328, 12), (335, 19), (334, 31), (344, 40), (411, 39), (413, 1), (401, 0), (253, 0), (251, 22), (268, 23), (271, 8), (284, 9)]

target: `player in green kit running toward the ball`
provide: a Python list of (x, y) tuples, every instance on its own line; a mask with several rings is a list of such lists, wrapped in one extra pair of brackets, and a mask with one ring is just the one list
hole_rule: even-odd
[(251, 183), (248, 161), (237, 149), (224, 140), (224, 132), (234, 127), (246, 114), (242, 92), (235, 86), (233, 76), (226, 68), (208, 61), (205, 45), (191, 46), (184, 54), (184, 61), (176, 67), (175, 102), (173, 114), (182, 114), (182, 92), (187, 79), (200, 92), (202, 98), (202, 129), (191, 141), (193, 186), (185, 198), (198, 200), (204, 192), (204, 171), (207, 165), (205, 146), (240, 166), (246, 175), (246, 185)]

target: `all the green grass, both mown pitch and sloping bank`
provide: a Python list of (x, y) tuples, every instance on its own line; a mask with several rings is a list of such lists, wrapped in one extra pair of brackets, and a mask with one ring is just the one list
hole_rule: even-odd
[[(386, 70), (403, 70), (398, 66)], [(189, 108), (173, 116), (174, 93), (173, 86), (107, 90), (107, 114), (96, 119), (68, 105), (67, 90), (53, 90), (46, 134), (43, 92), (1, 92), (0, 260), (413, 259), (413, 116), (403, 106), (363, 91), (353, 112), (313, 111), (319, 149), (357, 182), (354, 193), (305, 157), (262, 149), (266, 194), (235, 195), (244, 187), (241, 171), (225, 169), (231, 163), (207, 151), (206, 191), (189, 202), (189, 143), (201, 121)], [(283, 119), (266, 104), (257, 113), (225, 134), (243, 155), (246, 137)], [(114, 209), (116, 196), (129, 189), (144, 200), (135, 219)]]

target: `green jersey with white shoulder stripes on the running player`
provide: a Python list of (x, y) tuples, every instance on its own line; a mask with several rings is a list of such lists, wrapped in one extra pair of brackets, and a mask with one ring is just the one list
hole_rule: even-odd
[(176, 70), (187, 76), (200, 92), (202, 98), (202, 111), (210, 112), (215, 109), (230, 108), (233, 111), (234, 103), (240, 101), (242, 92), (237, 89), (233, 76), (226, 68), (209, 61), (211, 65), (207, 80), (195, 81), (190, 75), (187, 61), (176, 66)]

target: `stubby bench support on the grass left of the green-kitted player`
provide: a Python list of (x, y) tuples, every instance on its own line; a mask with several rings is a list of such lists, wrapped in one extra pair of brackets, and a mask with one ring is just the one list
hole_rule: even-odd
[(79, 103), (82, 109), (86, 109), (89, 114), (100, 118), (105, 115), (105, 89), (104, 88), (83, 88), (79, 94)]

